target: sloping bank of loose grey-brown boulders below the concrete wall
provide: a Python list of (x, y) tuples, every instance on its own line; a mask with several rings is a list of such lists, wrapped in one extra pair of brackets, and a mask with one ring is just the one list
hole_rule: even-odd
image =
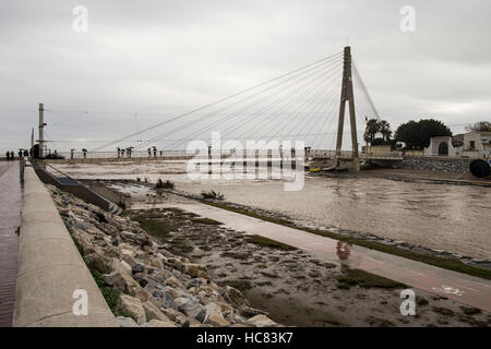
[[(278, 326), (204, 265), (167, 251), (136, 221), (49, 188), (120, 326)], [(116, 294), (116, 296), (115, 296)]]

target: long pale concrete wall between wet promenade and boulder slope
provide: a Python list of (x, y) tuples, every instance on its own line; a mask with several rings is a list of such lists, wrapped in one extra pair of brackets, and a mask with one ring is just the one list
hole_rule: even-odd
[[(87, 292), (87, 315), (73, 314), (77, 289)], [(32, 167), (25, 169), (13, 325), (118, 326)]]

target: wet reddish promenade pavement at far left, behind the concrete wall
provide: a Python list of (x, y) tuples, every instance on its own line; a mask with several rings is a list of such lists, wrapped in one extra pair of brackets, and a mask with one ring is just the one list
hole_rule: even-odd
[(0, 163), (0, 327), (12, 326), (21, 209), (19, 161)]

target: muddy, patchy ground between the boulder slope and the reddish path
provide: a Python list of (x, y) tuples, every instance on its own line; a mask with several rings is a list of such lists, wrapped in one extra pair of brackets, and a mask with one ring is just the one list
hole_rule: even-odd
[[(189, 198), (164, 193), (132, 196), (133, 219)], [(154, 207), (154, 208), (152, 208)], [(166, 212), (165, 209), (163, 212)], [(172, 253), (205, 265), (218, 285), (243, 292), (252, 306), (289, 326), (489, 326), (491, 314), (421, 290), (417, 315), (403, 316), (400, 290), (406, 287), (370, 276), (354, 276), (342, 264), (321, 262), (299, 250), (250, 242), (250, 236), (168, 210), (158, 224)], [(356, 273), (355, 273), (356, 274)]]

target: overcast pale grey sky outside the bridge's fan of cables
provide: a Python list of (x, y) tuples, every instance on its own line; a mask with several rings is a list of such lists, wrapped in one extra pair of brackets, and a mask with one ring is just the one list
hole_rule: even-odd
[[(84, 33), (73, 29), (79, 4), (88, 10)], [(403, 5), (416, 10), (414, 33), (400, 31)], [(0, 149), (28, 145), (40, 101), (53, 110), (48, 139), (113, 140), (347, 40), (393, 129), (435, 117), (459, 133), (491, 120), (490, 15), (489, 0), (2, 0)]]

